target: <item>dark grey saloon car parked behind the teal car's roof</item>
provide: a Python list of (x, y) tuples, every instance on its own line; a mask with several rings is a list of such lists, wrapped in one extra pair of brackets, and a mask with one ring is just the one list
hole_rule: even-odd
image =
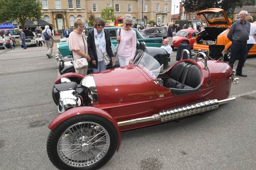
[(149, 27), (140, 31), (140, 34), (144, 37), (162, 37), (163, 39), (167, 36), (167, 27)]

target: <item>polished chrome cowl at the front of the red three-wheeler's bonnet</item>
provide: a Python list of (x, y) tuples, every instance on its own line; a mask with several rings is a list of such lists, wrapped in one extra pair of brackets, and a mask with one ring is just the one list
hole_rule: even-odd
[(97, 93), (97, 89), (96, 89), (96, 84), (94, 81), (94, 78), (92, 75), (86, 75), (81, 83), (82, 86), (87, 87), (91, 94), (92, 94), (92, 102), (96, 103), (98, 101), (98, 93)]

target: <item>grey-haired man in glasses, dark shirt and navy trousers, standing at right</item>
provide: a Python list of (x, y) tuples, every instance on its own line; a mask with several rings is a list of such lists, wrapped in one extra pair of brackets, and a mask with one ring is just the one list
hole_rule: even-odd
[(233, 68), (236, 59), (239, 59), (238, 65), (236, 67), (236, 75), (241, 77), (247, 77), (247, 75), (242, 74), (242, 67), (244, 64), (244, 55), (247, 50), (247, 40), (250, 34), (250, 22), (245, 20), (248, 16), (247, 11), (239, 12), (239, 20), (234, 22), (228, 32), (228, 39), (232, 41), (229, 65)]

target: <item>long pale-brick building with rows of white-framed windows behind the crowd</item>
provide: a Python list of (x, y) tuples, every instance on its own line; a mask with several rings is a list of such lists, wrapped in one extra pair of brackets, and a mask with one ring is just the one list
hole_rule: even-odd
[(114, 15), (124, 17), (131, 14), (134, 23), (147, 23), (154, 20), (166, 25), (171, 21), (172, 0), (40, 0), (42, 19), (53, 25), (55, 30), (62, 26), (74, 25), (76, 18), (88, 18), (90, 11), (96, 17), (101, 10), (114, 6)]

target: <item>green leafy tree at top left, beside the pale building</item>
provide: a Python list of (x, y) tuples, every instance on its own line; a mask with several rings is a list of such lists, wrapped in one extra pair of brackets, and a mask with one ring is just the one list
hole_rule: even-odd
[(26, 20), (39, 20), (42, 16), (39, 0), (0, 0), (0, 4), (0, 23), (16, 19), (24, 29)]

